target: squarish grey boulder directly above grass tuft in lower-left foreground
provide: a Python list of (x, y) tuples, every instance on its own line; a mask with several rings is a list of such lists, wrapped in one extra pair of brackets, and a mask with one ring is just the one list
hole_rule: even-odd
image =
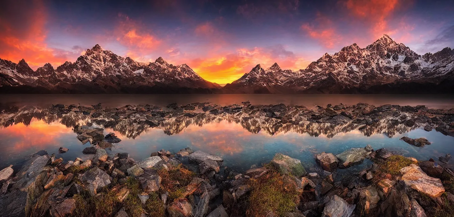
[(94, 167), (82, 174), (79, 179), (88, 183), (85, 187), (89, 190), (90, 195), (94, 196), (99, 189), (110, 184), (112, 178), (100, 168)]

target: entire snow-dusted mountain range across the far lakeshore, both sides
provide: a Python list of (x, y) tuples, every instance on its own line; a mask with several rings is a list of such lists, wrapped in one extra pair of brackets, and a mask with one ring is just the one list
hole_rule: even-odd
[(24, 59), (0, 59), (0, 93), (54, 94), (452, 94), (454, 50), (416, 54), (384, 35), (365, 48), (356, 44), (309, 64), (284, 70), (260, 64), (224, 87), (188, 65), (123, 58), (96, 44), (76, 62), (36, 71)]

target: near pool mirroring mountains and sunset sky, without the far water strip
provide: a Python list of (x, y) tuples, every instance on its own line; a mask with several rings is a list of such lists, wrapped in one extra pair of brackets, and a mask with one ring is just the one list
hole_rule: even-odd
[[(169, 108), (160, 111), (166, 109)], [(132, 110), (139, 110), (139, 107)], [(337, 154), (367, 144), (374, 149), (385, 147), (424, 160), (454, 153), (453, 137), (435, 130), (424, 131), (421, 127), (426, 123), (416, 122), (410, 127), (399, 119), (400, 113), (383, 112), (373, 124), (367, 125), (355, 121), (358, 118), (326, 118), (326, 123), (314, 122), (310, 119), (311, 113), (319, 111), (299, 107), (289, 108), (285, 116), (274, 118), (267, 117), (262, 111), (252, 112), (252, 115), (246, 111), (205, 113), (195, 109), (178, 115), (166, 113), (164, 117), (153, 116), (153, 112), (147, 112), (150, 115), (146, 116), (134, 111), (124, 112), (124, 118), (110, 124), (112, 118), (103, 118), (111, 117), (109, 111), (94, 118), (74, 111), (59, 113), (53, 109), (24, 107), (0, 114), (3, 126), (0, 129), (0, 148), (3, 150), (0, 166), (16, 165), (25, 156), (41, 149), (56, 153), (65, 161), (76, 157), (89, 159), (92, 156), (82, 154), (82, 150), (90, 144), (81, 144), (73, 130), (77, 125), (87, 124), (103, 127), (104, 134), (113, 132), (122, 139), (120, 143), (114, 143), (109, 153), (127, 152), (136, 160), (142, 160), (161, 148), (177, 152), (191, 147), (220, 155), (224, 158), (224, 165), (239, 171), (252, 164), (269, 162), (277, 152), (301, 159), (308, 168), (313, 168), (314, 153)], [(120, 114), (121, 111), (114, 110), (114, 113)], [(355, 115), (355, 111), (351, 113)], [(417, 118), (411, 113), (405, 115), (409, 116), (406, 119)], [(400, 141), (402, 136), (425, 137), (432, 144), (423, 148), (414, 147)], [(59, 154), (59, 147), (69, 148), (69, 152)]]

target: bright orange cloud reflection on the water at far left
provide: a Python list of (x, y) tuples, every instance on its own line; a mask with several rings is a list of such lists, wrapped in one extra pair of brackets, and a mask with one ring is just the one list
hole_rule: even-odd
[(49, 145), (62, 146), (56, 140), (63, 137), (63, 134), (75, 136), (71, 128), (66, 128), (59, 122), (47, 124), (36, 118), (31, 120), (29, 126), (18, 123), (0, 130), (0, 137), (4, 138), (4, 141), (6, 140), (7, 143), (14, 141), (5, 148), (12, 147), (15, 151), (24, 151), (31, 147), (44, 149)]

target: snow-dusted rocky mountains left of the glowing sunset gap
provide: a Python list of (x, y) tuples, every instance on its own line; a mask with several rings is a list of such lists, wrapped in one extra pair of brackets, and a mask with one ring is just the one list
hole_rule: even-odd
[(123, 58), (96, 44), (76, 62), (36, 71), (0, 59), (2, 93), (212, 93), (221, 86), (202, 79), (188, 65), (174, 66), (159, 57), (153, 63)]

